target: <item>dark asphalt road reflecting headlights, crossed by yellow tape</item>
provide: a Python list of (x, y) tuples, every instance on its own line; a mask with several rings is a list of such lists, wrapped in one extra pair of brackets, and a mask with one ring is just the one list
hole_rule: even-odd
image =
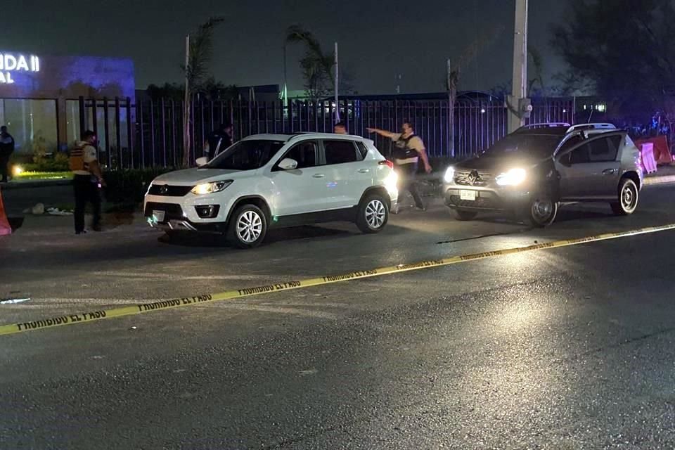
[[(0, 323), (675, 222), (572, 207), (532, 230), (439, 205), (257, 250), (143, 224), (0, 239)], [(0, 337), (0, 449), (672, 449), (669, 231)]]

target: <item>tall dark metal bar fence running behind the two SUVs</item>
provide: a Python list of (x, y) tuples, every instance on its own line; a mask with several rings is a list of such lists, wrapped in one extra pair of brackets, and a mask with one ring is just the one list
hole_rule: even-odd
[[(454, 105), (454, 149), (450, 145), (449, 102), (364, 101), (342, 99), (340, 117), (350, 134), (375, 140), (389, 155), (391, 142), (368, 134), (366, 128), (396, 131), (411, 122), (431, 157), (462, 158), (480, 152), (506, 135), (508, 108), (501, 102), (458, 101)], [(535, 101), (528, 123), (574, 122), (571, 99)], [(221, 122), (233, 124), (235, 140), (261, 133), (331, 132), (333, 101), (194, 101), (191, 108), (193, 159), (203, 155), (203, 143)], [(129, 99), (79, 99), (80, 128), (92, 127), (105, 144), (104, 161), (113, 168), (176, 167), (183, 154), (182, 101), (160, 99), (131, 104)], [(97, 117), (103, 114), (103, 120)], [(454, 150), (454, 151), (453, 151)]]

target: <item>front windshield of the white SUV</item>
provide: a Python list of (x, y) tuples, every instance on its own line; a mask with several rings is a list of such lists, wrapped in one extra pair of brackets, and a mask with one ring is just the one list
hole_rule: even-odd
[(266, 165), (281, 150), (282, 141), (239, 141), (204, 167), (207, 169), (255, 170)]

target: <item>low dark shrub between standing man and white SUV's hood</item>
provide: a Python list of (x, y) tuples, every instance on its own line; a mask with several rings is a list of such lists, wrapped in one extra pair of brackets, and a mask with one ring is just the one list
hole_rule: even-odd
[(150, 181), (172, 170), (172, 168), (153, 167), (105, 172), (103, 179), (108, 185), (105, 188), (105, 200), (109, 203), (141, 203), (148, 191)]

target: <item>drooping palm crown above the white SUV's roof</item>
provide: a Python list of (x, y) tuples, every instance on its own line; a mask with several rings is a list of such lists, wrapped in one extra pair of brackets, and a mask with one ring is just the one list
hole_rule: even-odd
[(300, 25), (288, 27), (286, 42), (304, 45), (304, 56), (300, 60), (300, 68), (307, 96), (314, 101), (328, 96), (330, 91), (335, 89), (333, 78), (335, 53), (333, 51), (324, 53), (314, 34)]

